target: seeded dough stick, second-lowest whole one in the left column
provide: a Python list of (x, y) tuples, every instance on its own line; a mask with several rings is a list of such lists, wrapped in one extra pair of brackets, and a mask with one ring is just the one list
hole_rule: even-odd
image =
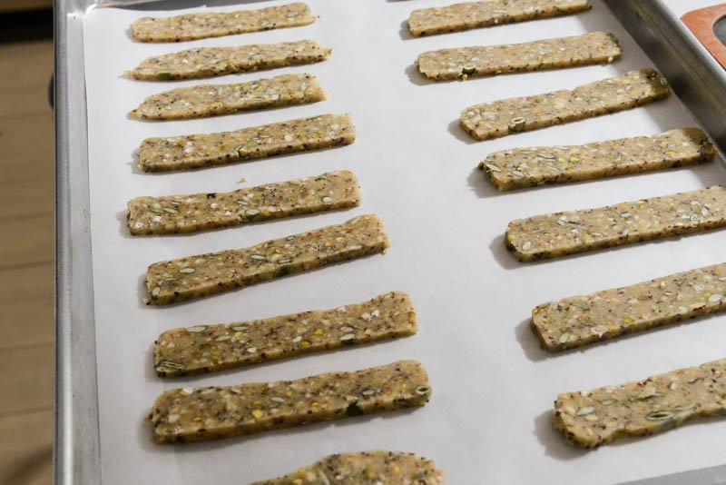
[(154, 342), (160, 377), (222, 371), (300, 353), (413, 335), (416, 312), (404, 292), (388, 292), (332, 310), (264, 320), (196, 325), (163, 332)]

